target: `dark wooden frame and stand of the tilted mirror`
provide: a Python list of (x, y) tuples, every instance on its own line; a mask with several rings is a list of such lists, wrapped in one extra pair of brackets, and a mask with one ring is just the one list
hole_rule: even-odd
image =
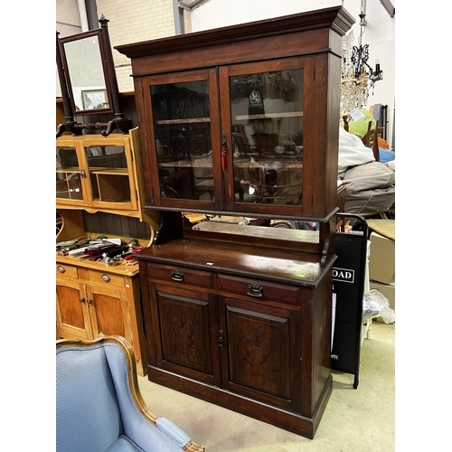
[[(121, 112), (119, 103), (119, 89), (118, 80), (116, 78), (116, 71), (113, 62), (113, 54), (111, 52), (111, 45), (108, 35), (108, 19), (102, 14), (99, 18), (100, 28), (89, 30), (84, 33), (72, 34), (64, 38), (59, 37), (59, 32), (56, 33), (56, 64), (58, 69), (58, 76), (61, 85), (61, 97), (63, 101), (65, 122), (60, 124), (57, 128), (57, 138), (64, 132), (69, 131), (73, 135), (81, 135), (83, 129), (102, 129), (101, 134), (107, 137), (114, 128), (119, 128), (127, 133), (132, 128), (132, 121), (124, 118)], [(71, 76), (69, 74), (68, 61), (64, 44), (67, 42), (80, 41), (91, 36), (98, 36), (100, 59), (102, 63), (102, 71), (104, 74), (105, 88), (107, 91), (108, 108), (96, 109), (80, 109), (75, 111), (74, 95), (71, 86)], [(75, 116), (90, 116), (99, 114), (113, 113), (114, 119), (108, 123), (95, 124), (80, 124), (75, 121)]]

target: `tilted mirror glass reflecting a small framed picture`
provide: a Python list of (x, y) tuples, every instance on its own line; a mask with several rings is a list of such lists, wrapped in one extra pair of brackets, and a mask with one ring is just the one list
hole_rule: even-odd
[(108, 108), (98, 36), (65, 42), (64, 52), (71, 78), (75, 110)]

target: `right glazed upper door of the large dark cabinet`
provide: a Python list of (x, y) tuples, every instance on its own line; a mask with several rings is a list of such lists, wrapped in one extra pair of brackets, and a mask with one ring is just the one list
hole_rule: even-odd
[[(228, 211), (300, 213), (303, 203), (305, 72), (302, 59), (220, 69)], [(227, 98), (227, 99), (225, 99)], [(228, 111), (228, 109), (230, 111)]]

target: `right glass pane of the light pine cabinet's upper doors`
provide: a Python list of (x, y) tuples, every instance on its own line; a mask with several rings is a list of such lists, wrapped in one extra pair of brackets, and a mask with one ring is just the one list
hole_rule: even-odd
[(130, 202), (124, 146), (87, 146), (85, 153), (93, 201)]

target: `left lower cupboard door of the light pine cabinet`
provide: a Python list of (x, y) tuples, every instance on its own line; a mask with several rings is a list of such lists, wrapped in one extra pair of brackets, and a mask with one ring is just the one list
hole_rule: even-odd
[(86, 287), (78, 279), (56, 278), (57, 335), (65, 339), (92, 339)]

